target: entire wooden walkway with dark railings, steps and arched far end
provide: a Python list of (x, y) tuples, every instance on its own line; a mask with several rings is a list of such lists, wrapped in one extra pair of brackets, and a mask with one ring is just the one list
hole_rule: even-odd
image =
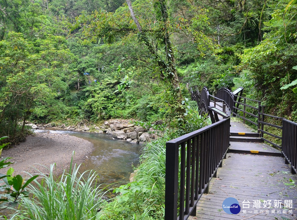
[[(297, 219), (297, 123), (265, 114), (243, 89), (190, 88), (212, 124), (166, 143), (165, 220)], [(228, 197), (239, 213), (222, 207)]]

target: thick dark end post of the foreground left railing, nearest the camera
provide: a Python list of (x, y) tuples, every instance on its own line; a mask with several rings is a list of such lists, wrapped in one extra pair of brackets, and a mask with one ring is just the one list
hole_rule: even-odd
[(177, 220), (178, 154), (177, 142), (168, 141), (165, 160), (165, 220)]

